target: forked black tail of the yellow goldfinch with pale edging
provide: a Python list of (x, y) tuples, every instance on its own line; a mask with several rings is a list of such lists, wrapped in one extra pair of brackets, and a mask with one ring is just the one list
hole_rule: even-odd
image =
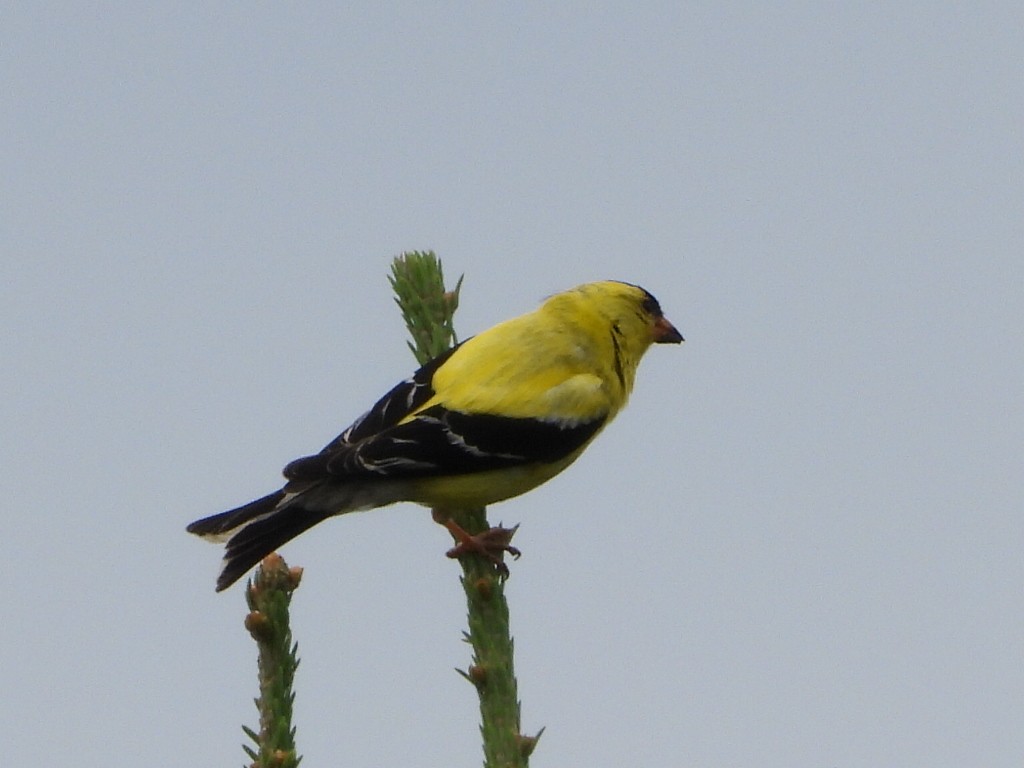
[(230, 587), (283, 544), (330, 516), (304, 509), (297, 500), (279, 509), (284, 498), (285, 492), (278, 490), (238, 509), (197, 520), (187, 527), (189, 534), (214, 541), (230, 536), (224, 566), (217, 577), (217, 592)]

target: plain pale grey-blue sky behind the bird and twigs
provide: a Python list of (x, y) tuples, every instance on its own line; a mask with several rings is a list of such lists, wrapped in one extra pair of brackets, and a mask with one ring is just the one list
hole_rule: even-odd
[[(243, 764), (184, 526), (411, 373), (411, 249), (463, 335), (614, 278), (687, 338), (492, 509), (532, 765), (1024, 762), (1019, 2), (22, 3), (0, 61), (5, 764)], [(447, 546), (285, 548), (303, 765), (479, 764)]]

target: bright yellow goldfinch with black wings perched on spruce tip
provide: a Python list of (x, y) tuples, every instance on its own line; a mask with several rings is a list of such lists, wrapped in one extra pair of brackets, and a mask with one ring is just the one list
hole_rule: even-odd
[(606, 281), (556, 294), (427, 362), (318, 454), (285, 467), (280, 490), (188, 531), (227, 542), (219, 592), (334, 515), (519, 496), (575, 461), (623, 409), (651, 344), (682, 341), (638, 286)]

